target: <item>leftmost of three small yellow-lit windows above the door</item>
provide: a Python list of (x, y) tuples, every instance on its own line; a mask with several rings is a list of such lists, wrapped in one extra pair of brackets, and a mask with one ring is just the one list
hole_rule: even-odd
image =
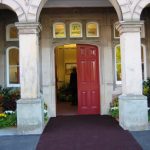
[(54, 38), (66, 38), (66, 26), (62, 22), (53, 24), (53, 37)]

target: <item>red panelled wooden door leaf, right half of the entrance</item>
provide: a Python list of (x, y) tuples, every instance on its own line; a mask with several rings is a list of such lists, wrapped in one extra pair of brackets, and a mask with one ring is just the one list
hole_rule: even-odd
[(100, 113), (98, 48), (77, 45), (78, 113)]

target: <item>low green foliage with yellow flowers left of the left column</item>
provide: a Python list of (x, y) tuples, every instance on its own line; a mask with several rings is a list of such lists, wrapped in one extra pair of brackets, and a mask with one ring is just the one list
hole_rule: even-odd
[(17, 125), (16, 113), (0, 114), (0, 128), (13, 127)]

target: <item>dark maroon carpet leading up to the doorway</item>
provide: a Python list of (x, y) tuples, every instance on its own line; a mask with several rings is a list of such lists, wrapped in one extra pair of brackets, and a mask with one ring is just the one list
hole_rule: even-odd
[(50, 119), (37, 150), (142, 150), (110, 116), (59, 116)]

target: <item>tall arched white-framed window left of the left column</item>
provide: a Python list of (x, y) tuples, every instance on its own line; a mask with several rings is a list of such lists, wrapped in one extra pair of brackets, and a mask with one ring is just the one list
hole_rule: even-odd
[(19, 87), (19, 49), (10, 47), (7, 49), (7, 86)]

